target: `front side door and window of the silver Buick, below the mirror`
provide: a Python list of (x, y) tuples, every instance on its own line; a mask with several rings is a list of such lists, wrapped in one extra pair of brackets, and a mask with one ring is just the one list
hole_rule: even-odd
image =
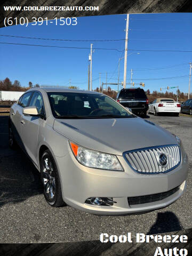
[[(44, 113), (43, 97), (39, 92), (34, 92), (29, 103), (37, 108), (38, 114)], [(45, 119), (39, 116), (21, 116), (21, 137), (25, 146), (25, 151), (31, 160), (37, 165), (37, 140), (39, 126), (43, 125)]]

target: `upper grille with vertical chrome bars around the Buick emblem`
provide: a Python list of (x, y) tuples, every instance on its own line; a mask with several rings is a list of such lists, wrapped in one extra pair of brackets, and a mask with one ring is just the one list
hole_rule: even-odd
[[(160, 158), (164, 155), (166, 164)], [(127, 151), (124, 157), (134, 171), (143, 174), (158, 174), (173, 170), (180, 164), (181, 153), (178, 145), (165, 145)]]

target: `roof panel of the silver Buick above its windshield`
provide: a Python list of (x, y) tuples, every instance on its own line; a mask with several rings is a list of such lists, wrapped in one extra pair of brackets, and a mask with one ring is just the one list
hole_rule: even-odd
[(45, 92), (74, 92), (74, 93), (92, 93), (92, 94), (102, 94), (95, 91), (88, 90), (77, 90), (77, 89), (67, 89), (67, 88), (54, 88), (54, 87), (33, 87), (26, 92), (29, 91), (45, 91)]

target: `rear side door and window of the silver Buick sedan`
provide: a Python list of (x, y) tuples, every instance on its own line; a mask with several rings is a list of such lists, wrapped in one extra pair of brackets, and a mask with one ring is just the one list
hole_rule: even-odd
[(20, 147), (23, 147), (23, 141), (21, 138), (21, 116), (22, 116), (22, 109), (23, 107), (27, 107), (29, 103), (29, 99), (32, 95), (32, 92), (27, 92), (23, 94), (18, 103), (14, 104), (11, 107), (10, 111), (10, 117), (11, 117), (11, 123), (12, 123), (12, 131), (14, 134), (15, 140), (17, 140)]

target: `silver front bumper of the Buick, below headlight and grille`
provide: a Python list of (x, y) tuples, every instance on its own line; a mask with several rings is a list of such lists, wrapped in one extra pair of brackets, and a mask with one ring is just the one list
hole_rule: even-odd
[[(185, 154), (185, 152), (182, 152)], [(180, 165), (168, 173), (140, 174), (134, 172), (123, 156), (118, 156), (124, 171), (93, 169), (78, 163), (70, 151), (65, 157), (56, 157), (60, 171), (63, 200), (70, 206), (102, 215), (120, 215), (145, 212), (165, 207), (177, 200), (186, 188), (188, 161), (181, 157)], [(166, 198), (143, 204), (130, 205), (128, 197), (164, 193), (179, 187)], [(112, 197), (113, 206), (86, 204), (90, 197)]]

